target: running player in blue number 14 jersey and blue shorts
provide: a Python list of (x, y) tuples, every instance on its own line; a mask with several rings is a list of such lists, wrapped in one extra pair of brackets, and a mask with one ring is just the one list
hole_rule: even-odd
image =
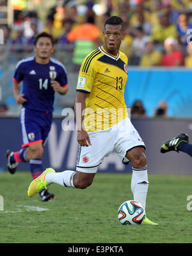
[[(28, 162), (33, 179), (42, 173), (42, 155), (52, 123), (54, 93), (65, 95), (67, 72), (60, 61), (50, 58), (54, 38), (45, 32), (36, 35), (35, 57), (19, 61), (13, 76), (13, 96), (20, 110), (22, 147), (18, 152), (6, 151), (8, 170), (15, 173), (17, 164)], [(22, 93), (20, 83), (22, 81)], [(40, 191), (42, 201), (54, 198), (46, 189)]]

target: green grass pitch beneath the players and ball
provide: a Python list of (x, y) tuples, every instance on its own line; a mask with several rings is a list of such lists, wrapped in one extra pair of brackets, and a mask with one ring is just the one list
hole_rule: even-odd
[[(158, 226), (124, 226), (120, 204), (132, 200), (131, 174), (97, 173), (87, 189), (52, 184), (54, 200), (28, 198), (29, 172), (0, 173), (0, 243), (191, 243), (192, 176), (148, 175), (147, 216)], [(32, 211), (36, 209), (47, 211)]]

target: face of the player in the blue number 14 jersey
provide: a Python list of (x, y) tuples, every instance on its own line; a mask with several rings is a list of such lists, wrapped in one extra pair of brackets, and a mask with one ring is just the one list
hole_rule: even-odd
[(49, 58), (54, 51), (51, 39), (49, 37), (40, 37), (34, 46), (34, 50), (38, 58)]

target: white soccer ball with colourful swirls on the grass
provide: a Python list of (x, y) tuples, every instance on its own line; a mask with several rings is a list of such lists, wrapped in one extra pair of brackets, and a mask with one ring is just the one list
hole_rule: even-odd
[(118, 220), (122, 225), (140, 225), (144, 219), (145, 209), (140, 202), (129, 200), (118, 209)]

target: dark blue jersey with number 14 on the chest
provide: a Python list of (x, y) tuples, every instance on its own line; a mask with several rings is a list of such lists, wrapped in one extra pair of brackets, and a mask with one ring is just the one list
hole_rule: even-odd
[(51, 79), (61, 86), (67, 85), (67, 72), (60, 61), (50, 58), (49, 63), (36, 63), (35, 57), (19, 61), (13, 81), (22, 81), (22, 93), (27, 100), (24, 108), (36, 111), (53, 111), (54, 90)]

